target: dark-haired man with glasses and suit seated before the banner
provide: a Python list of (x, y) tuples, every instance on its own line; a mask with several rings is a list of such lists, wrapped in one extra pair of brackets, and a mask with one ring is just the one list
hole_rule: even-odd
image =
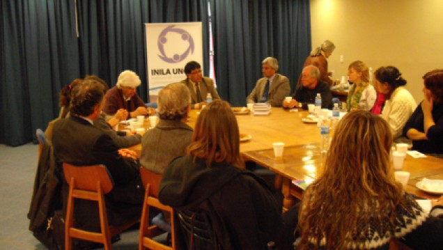
[(212, 95), (212, 100), (220, 99), (219, 93), (214, 87), (214, 81), (209, 77), (203, 77), (199, 63), (196, 61), (186, 63), (185, 74), (187, 78), (180, 82), (189, 88), (192, 109), (201, 109), (203, 105), (206, 105), (208, 93)]

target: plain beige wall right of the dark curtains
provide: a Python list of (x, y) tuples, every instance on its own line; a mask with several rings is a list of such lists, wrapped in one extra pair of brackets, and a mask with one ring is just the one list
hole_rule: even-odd
[(421, 77), (443, 68), (442, 0), (311, 0), (311, 30), (313, 48), (326, 39), (336, 45), (328, 59), (334, 78), (355, 60), (373, 71), (394, 65), (417, 104)]

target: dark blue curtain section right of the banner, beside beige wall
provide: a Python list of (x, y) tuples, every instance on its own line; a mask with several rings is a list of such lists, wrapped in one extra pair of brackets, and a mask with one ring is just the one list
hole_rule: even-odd
[(294, 90), (311, 51), (309, 0), (210, 0), (210, 8), (221, 97), (244, 106), (267, 56)]

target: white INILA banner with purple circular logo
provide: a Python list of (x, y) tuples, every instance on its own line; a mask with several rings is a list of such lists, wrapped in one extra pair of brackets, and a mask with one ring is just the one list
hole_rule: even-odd
[(201, 22), (145, 24), (149, 94), (186, 78), (187, 62), (196, 61), (203, 70)]

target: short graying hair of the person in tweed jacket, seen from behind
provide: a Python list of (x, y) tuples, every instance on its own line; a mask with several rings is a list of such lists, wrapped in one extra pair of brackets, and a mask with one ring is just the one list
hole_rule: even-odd
[(180, 120), (187, 116), (191, 95), (185, 84), (168, 84), (158, 93), (158, 114), (163, 120)]

